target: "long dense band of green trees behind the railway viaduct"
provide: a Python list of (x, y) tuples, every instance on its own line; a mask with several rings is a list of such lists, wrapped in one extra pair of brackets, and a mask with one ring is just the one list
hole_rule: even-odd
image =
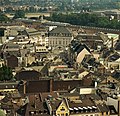
[(120, 22), (109, 17), (98, 16), (89, 13), (53, 13), (51, 17), (44, 17), (47, 20), (70, 23), (72, 25), (93, 26), (101, 28), (120, 29)]

